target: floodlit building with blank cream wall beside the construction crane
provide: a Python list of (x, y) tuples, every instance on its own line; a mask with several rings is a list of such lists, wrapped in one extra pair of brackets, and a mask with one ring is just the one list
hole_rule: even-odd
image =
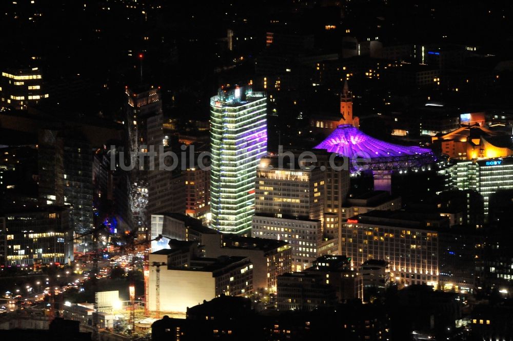
[[(163, 249), (150, 253), (149, 262), (164, 263), (160, 266), (160, 311), (183, 313), (204, 300), (222, 294), (245, 296), (253, 290), (253, 264), (248, 257), (206, 258), (193, 253), (196, 247)], [(150, 266), (149, 309), (155, 311), (156, 266)]]

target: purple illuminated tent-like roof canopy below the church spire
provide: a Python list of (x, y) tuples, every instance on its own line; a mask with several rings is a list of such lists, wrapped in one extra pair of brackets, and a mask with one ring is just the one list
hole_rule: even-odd
[[(381, 164), (380, 169), (420, 166), (435, 161), (435, 156), (428, 148), (400, 146), (381, 141), (351, 125), (338, 126), (314, 149), (326, 149), (330, 153), (337, 153), (350, 160), (357, 157), (368, 158), (370, 159), (368, 164)], [(387, 167), (384, 165), (386, 163), (390, 165)]]

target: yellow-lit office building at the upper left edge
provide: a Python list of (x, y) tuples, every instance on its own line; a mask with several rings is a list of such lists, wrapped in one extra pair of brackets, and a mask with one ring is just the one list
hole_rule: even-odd
[(0, 76), (0, 108), (25, 110), (48, 98), (42, 89), (43, 79), (38, 68), (6, 70)]

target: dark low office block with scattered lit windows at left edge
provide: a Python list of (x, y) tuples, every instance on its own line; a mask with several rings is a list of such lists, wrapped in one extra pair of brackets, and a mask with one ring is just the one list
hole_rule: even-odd
[(58, 206), (5, 212), (0, 217), (2, 266), (67, 264), (73, 260), (69, 210)]

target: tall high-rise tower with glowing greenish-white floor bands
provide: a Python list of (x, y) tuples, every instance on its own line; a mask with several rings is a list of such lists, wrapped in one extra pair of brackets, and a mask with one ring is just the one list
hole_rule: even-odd
[(267, 152), (266, 101), (251, 86), (210, 98), (211, 225), (221, 232), (250, 232), (257, 166)]

